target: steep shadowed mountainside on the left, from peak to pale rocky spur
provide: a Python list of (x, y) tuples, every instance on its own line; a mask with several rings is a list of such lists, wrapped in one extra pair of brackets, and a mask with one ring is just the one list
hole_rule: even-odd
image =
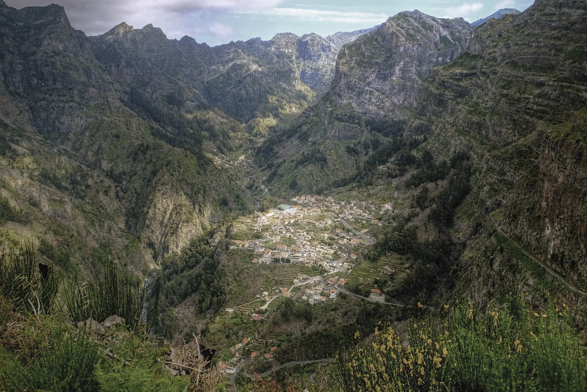
[[(152, 26), (142, 33), (166, 39)], [(202, 152), (238, 153), (247, 133), (197, 91), (164, 73), (141, 73), (146, 65), (125, 60), (112, 44), (97, 50), (57, 5), (0, 4), (0, 35), (0, 141), (9, 146), (0, 153), (0, 185), (15, 209), (32, 216), (29, 234), (57, 239), (66, 230), (70, 240), (59, 246), (72, 254), (89, 246), (120, 257), (132, 243), (127, 248), (148, 263), (145, 246), (160, 256), (178, 252), (202, 222), (250, 205)], [(166, 171), (173, 182), (158, 177)], [(161, 203), (161, 192), (176, 196)]]

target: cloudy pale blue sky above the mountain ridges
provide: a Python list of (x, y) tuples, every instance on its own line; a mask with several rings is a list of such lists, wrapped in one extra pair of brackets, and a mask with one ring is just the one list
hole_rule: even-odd
[(500, 8), (524, 11), (534, 0), (5, 0), (15, 8), (56, 3), (86, 35), (98, 35), (120, 22), (134, 28), (153, 24), (167, 38), (191, 36), (214, 46), (278, 32), (326, 36), (378, 25), (400, 11), (419, 9), (441, 18), (469, 22)]

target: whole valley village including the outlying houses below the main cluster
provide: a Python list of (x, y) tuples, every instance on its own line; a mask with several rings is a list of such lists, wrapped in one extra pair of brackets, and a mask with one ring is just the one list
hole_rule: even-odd
[[(295, 303), (306, 303), (312, 308), (320, 304), (335, 303), (339, 294), (356, 296), (345, 289), (348, 279), (356, 283), (375, 279), (389, 279), (394, 273), (393, 263), (380, 267), (369, 266), (367, 270), (358, 266), (366, 263), (363, 256), (375, 239), (369, 236), (370, 229), (390, 225), (392, 203), (374, 205), (372, 202), (335, 200), (333, 197), (303, 195), (296, 196), (289, 204), (281, 204), (268, 212), (241, 217), (232, 236), (231, 249), (243, 250), (251, 255), (243, 263), (271, 267), (274, 274), (279, 270), (291, 270), (299, 266), (305, 273), (297, 273), (291, 280), (281, 279), (278, 284), (265, 287), (252, 302), (234, 304), (225, 309), (230, 319), (233, 314), (242, 314), (249, 321), (264, 320), (276, 309), (275, 303), (291, 298)], [(393, 260), (392, 260), (393, 261)], [(397, 262), (397, 260), (396, 260)], [(386, 263), (386, 262), (384, 262)], [(360, 297), (375, 302), (384, 302), (385, 295), (370, 286), (369, 297)], [(225, 373), (233, 373), (241, 361), (274, 361), (277, 346), (271, 339), (257, 336), (242, 337), (239, 343), (225, 353), (221, 367)]]

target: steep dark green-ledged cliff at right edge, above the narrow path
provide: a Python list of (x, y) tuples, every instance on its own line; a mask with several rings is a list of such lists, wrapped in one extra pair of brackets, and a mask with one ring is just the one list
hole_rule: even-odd
[(407, 128), (426, 134), (438, 156), (473, 153), (481, 219), (583, 289), (586, 12), (582, 1), (537, 0), (486, 22), (466, 53), (426, 81)]

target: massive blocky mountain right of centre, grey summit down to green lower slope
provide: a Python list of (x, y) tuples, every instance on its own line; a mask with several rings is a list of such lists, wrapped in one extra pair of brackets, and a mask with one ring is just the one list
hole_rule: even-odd
[(352, 177), (383, 138), (401, 134), (421, 81), (457, 58), (472, 33), (462, 18), (406, 11), (343, 46), (329, 92), (259, 149), (274, 190), (315, 192)]

